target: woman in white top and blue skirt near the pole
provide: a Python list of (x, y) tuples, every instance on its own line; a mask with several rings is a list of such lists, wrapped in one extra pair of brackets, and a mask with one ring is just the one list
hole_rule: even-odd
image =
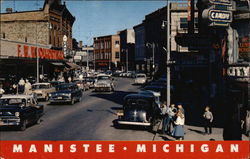
[(183, 140), (184, 139), (184, 124), (185, 124), (185, 117), (184, 114), (180, 110), (176, 113), (176, 120), (174, 121), (175, 127), (172, 132), (172, 136), (176, 140)]

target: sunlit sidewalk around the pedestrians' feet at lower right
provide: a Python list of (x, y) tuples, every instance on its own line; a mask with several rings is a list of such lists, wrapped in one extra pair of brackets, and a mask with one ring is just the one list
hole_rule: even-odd
[[(203, 135), (204, 128), (197, 127), (197, 126), (189, 126), (185, 125), (185, 141), (209, 141), (209, 140), (216, 140), (216, 141), (223, 141), (223, 129), (222, 128), (213, 128), (213, 133), (211, 135)], [(249, 137), (246, 135), (242, 135), (242, 140), (249, 141)], [(169, 135), (162, 135), (157, 134), (155, 140), (175, 140), (175, 138)]]

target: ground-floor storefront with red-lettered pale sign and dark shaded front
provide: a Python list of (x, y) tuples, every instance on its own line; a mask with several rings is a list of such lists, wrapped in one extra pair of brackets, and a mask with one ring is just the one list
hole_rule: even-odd
[[(38, 58), (37, 58), (38, 55)], [(28, 44), (1, 39), (0, 76), (17, 79), (37, 76), (39, 74), (54, 78), (55, 72), (63, 70), (64, 55), (62, 51), (52, 50), (49, 46)]]

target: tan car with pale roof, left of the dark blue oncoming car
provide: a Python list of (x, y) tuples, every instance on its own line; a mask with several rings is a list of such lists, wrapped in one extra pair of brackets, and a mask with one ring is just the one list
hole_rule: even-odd
[(50, 83), (35, 83), (32, 85), (32, 92), (36, 94), (36, 98), (48, 100), (49, 93), (55, 92), (55, 87), (52, 87)]

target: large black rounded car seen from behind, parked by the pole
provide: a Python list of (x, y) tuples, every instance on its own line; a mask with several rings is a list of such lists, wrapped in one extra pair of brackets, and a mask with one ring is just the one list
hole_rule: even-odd
[(155, 131), (161, 110), (155, 97), (149, 94), (129, 94), (124, 98), (123, 109), (118, 111), (118, 125), (144, 126)]

